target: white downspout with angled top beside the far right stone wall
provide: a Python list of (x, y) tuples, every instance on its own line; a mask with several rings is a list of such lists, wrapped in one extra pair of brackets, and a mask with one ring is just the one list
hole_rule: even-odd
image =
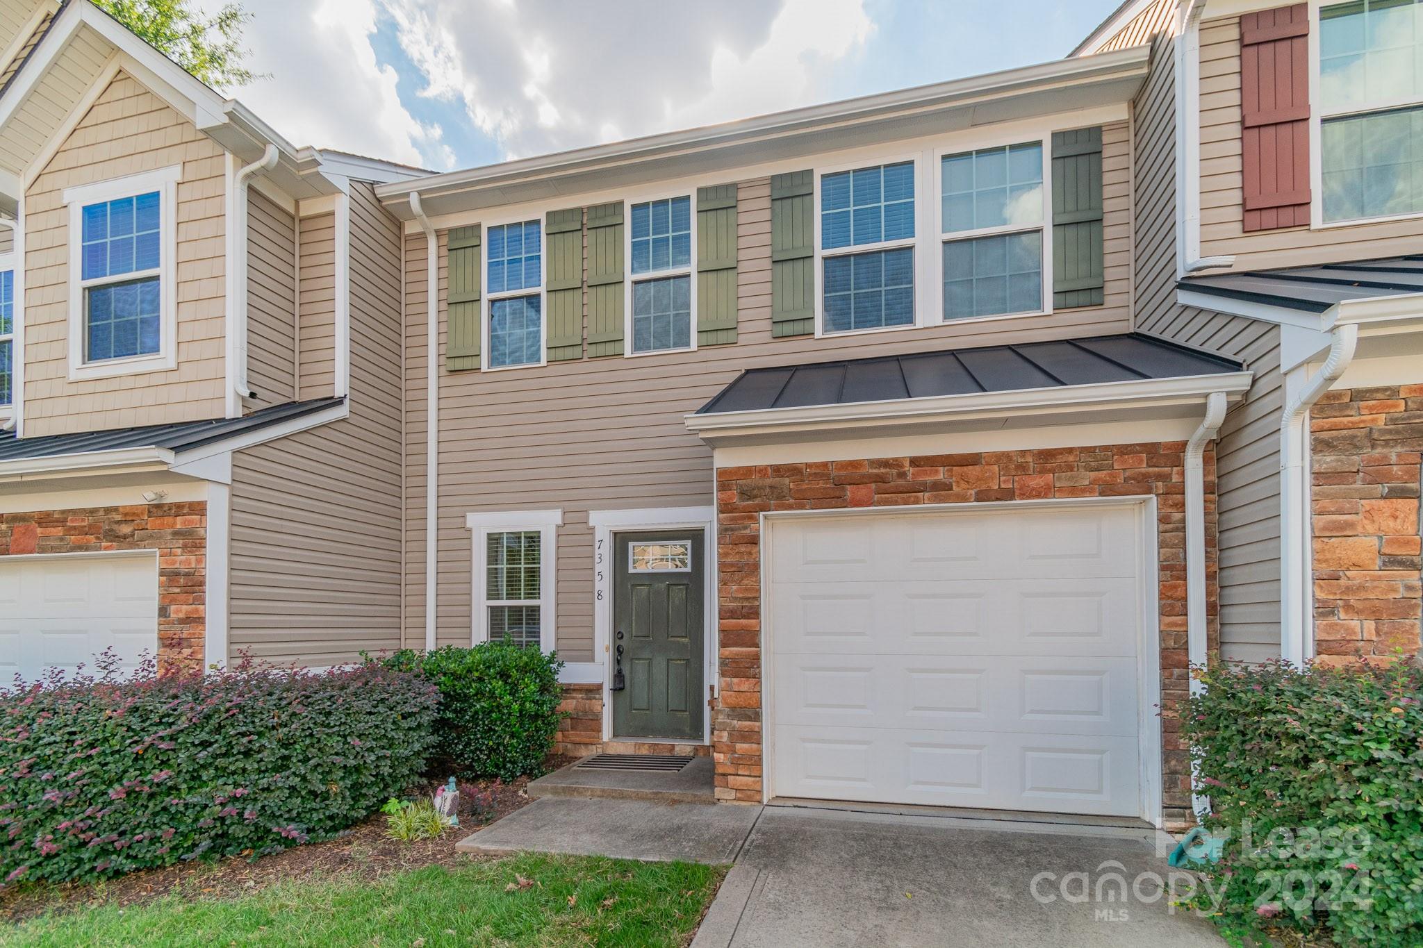
[(1359, 345), (1359, 327), (1336, 325), (1323, 368), (1292, 401), (1279, 429), (1279, 654), (1295, 667), (1308, 658), (1305, 603), (1309, 591), (1309, 510), (1305, 506), (1305, 438), (1309, 409), (1339, 381), (1353, 361)]

